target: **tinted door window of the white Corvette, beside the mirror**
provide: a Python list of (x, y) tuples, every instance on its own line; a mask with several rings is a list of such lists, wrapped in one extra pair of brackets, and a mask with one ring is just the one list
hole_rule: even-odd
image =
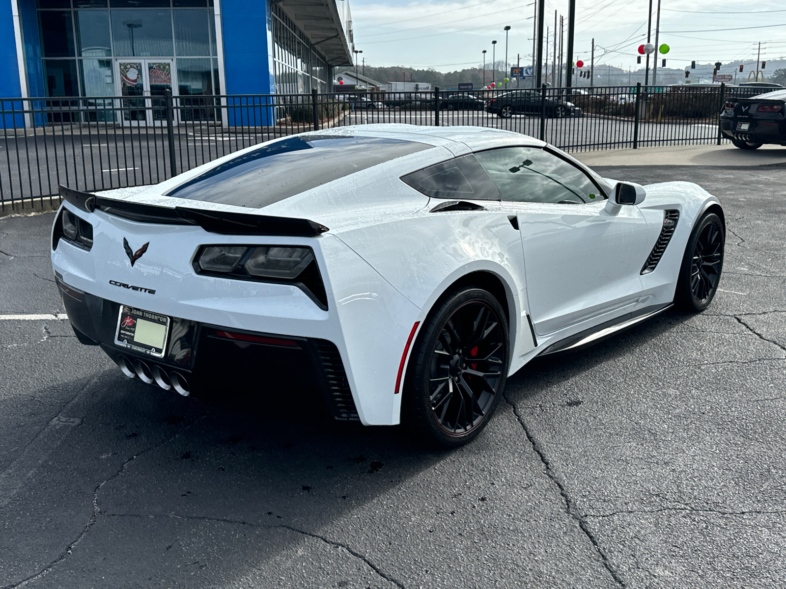
[(502, 200), (584, 204), (605, 198), (582, 170), (541, 148), (497, 148), (475, 155)]

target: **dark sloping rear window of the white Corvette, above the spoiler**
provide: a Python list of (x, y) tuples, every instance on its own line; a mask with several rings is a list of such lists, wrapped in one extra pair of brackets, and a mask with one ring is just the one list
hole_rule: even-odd
[(289, 137), (215, 166), (167, 196), (261, 209), (432, 145), (384, 137)]

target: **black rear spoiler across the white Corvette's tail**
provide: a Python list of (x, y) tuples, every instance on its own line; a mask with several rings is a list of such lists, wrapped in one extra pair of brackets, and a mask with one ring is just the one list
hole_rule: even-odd
[(189, 207), (157, 207), (128, 200), (108, 199), (91, 192), (59, 186), (60, 196), (86, 213), (102, 210), (107, 214), (163, 225), (200, 225), (205, 231), (222, 235), (269, 235), (314, 237), (329, 231), (308, 219), (270, 217), (262, 214), (232, 213), (223, 210), (193, 209)]

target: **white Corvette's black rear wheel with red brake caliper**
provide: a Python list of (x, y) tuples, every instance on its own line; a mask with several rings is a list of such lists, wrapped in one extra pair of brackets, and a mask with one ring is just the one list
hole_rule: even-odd
[(492, 294), (472, 286), (446, 294), (413, 346), (402, 399), (405, 421), (431, 444), (471, 441), (499, 404), (509, 356), (505, 311)]

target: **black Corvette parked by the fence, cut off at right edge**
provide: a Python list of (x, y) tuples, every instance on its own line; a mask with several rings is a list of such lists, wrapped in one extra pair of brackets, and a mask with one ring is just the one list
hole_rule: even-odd
[(740, 149), (786, 145), (786, 90), (726, 101), (721, 131)]

